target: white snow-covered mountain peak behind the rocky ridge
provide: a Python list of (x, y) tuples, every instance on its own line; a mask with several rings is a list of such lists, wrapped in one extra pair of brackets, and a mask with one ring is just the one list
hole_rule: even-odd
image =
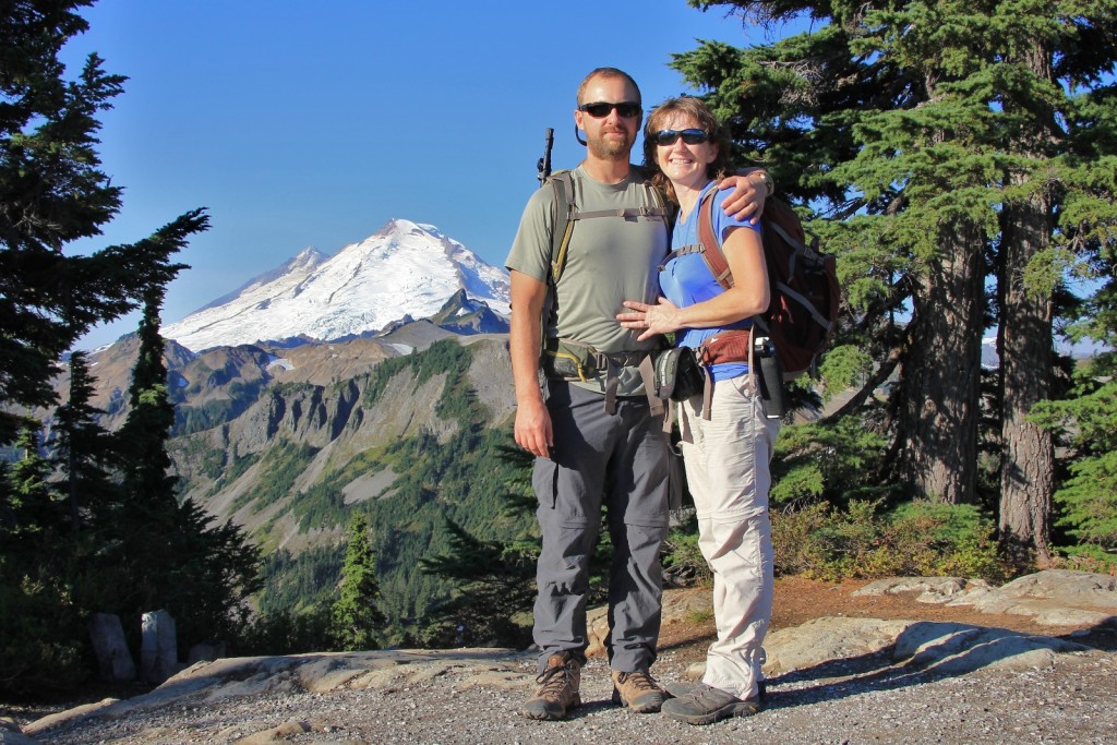
[(435, 226), (397, 219), (332, 257), (306, 249), (161, 332), (195, 352), (297, 336), (330, 341), (431, 316), (461, 290), (510, 312), (504, 269)]

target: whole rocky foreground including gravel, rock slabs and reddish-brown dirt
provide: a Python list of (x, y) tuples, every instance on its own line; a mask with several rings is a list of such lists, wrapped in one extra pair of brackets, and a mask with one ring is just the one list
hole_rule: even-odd
[[(1117, 743), (1117, 627), (853, 594), (865, 584), (780, 580), (767, 706), (707, 727), (612, 706), (600, 656), (569, 720), (528, 720), (531, 655), (450, 650), (218, 661), (86, 711), (0, 707), (23, 728), (0, 744)], [(704, 658), (704, 592), (671, 593), (661, 680)]]

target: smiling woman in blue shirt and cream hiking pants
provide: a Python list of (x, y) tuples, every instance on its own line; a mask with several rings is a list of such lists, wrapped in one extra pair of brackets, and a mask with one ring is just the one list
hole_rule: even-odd
[[(716, 189), (727, 160), (727, 141), (709, 109), (697, 98), (670, 98), (645, 127), (645, 165), (679, 204), (671, 248), (698, 243), (701, 195)], [(626, 302), (618, 315), (640, 338), (676, 333), (676, 343), (699, 348), (726, 329), (747, 329), (768, 304), (767, 271), (760, 227), (726, 217), (714, 195), (714, 229), (734, 285), (723, 289), (701, 255), (672, 254), (660, 273), (666, 297), (657, 305)], [(713, 400), (704, 411), (701, 393), (679, 404), (687, 483), (698, 515), (698, 542), (714, 572), (717, 640), (706, 657), (701, 684), (663, 703), (668, 716), (710, 724), (760, 710), (757, 682), (762, 644), (772, 614), (772, 534), (767, 513), (768, 461), (779, 420), (764, 417), (746, 356), (707, 369)]]

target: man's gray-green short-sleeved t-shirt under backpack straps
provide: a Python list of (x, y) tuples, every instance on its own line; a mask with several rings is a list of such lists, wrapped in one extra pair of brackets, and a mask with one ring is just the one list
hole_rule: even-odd
[[(573, 171), (580, 212), (659, 207), (643, 174), (632, 168), (620, 183), (593, 180), (581, 166)], [(540, 281), (550, 281), (551, 236), (556, 198), (544, 187), (527, 202), (505, 266)], [(656, 340), (638, 342), (639, 331), (622, 328), (617, 314), (623, 300), (656, 303), (659, 264), (667, 256), (667, 223), (662, 217), (598, 217), (577, 220), (571, 235), (566, 265), (558, 280), (554, 313), (546, 319), (547, 337), (573, 338), (599, 352), (651, 350)], [(585, 385), (601, 391), (603, 375)], [(634, 367), (621, 371), (620, 395), (643, 391)]]

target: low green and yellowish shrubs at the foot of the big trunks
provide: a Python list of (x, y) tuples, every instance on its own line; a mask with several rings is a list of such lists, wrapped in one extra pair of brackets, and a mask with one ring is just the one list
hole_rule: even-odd
[(925, 500), (879, 512), (855, 500), (773, 515), (776, 572), (823, 580), (962, 575), (1001, 581), (994, 524), (972, 505)]

